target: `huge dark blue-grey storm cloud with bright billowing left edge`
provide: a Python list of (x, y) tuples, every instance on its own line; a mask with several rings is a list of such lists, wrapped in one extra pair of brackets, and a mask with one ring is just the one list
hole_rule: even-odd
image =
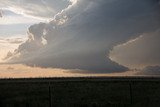
[[(160, 28), (157, 0), (75, 0), (49, 23), (32, 25), (28, 40), (9, 63), (41, 67), (122, 72), (110, 50)], [(44, 44), (45, 42), (45, 44)], [(19, 54), (19, 57), (14, 55)]]

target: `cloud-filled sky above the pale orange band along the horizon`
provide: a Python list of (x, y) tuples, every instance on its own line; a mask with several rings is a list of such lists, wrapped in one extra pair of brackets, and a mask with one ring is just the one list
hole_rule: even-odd
[(0, 0), (0, 8), (7, 64), (90, 73), (160, 66), (158, 0)]

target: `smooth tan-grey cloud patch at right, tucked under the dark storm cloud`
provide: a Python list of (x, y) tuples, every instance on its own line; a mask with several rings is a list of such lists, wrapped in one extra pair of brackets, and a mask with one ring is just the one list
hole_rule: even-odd
[(110, 57), (130, 68), (160, 65), (160, 29), (115, 46)]

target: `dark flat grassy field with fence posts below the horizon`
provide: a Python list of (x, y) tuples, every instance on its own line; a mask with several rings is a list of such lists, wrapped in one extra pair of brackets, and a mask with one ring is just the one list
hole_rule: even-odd
[(160, 78), (0, 79), (0, 107), (160, 107)]

